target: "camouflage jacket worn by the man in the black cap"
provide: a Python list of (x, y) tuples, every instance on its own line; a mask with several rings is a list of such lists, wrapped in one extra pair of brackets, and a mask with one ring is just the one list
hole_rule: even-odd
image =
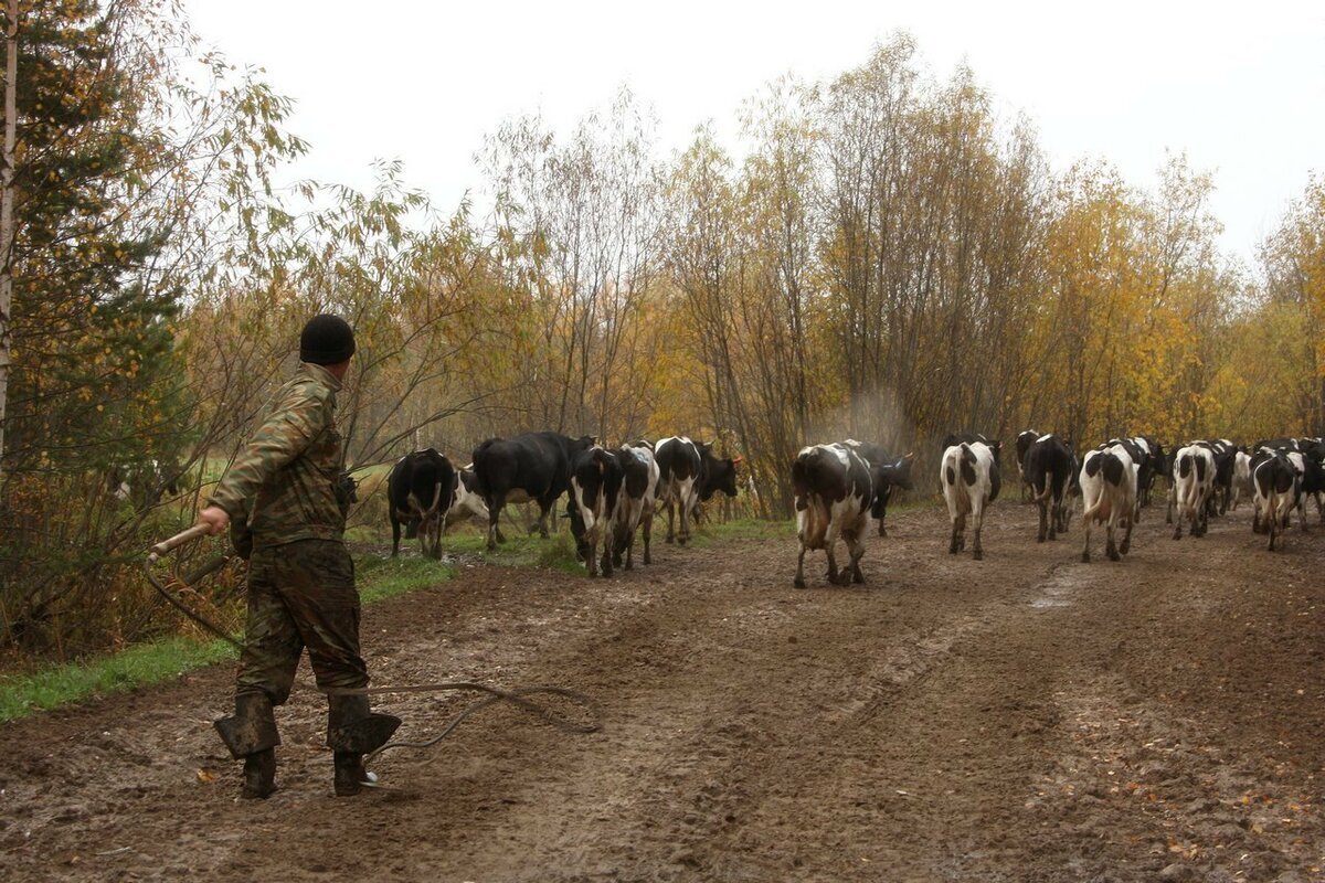
[(253, 548), (339, 540), (344, 532), (344, 508), (335, 490), (344, 466), (335, 429), (339, 391), (341, 381), (331, 372), (302, 363), (208, 498), (236, 527), (248, 524)]

